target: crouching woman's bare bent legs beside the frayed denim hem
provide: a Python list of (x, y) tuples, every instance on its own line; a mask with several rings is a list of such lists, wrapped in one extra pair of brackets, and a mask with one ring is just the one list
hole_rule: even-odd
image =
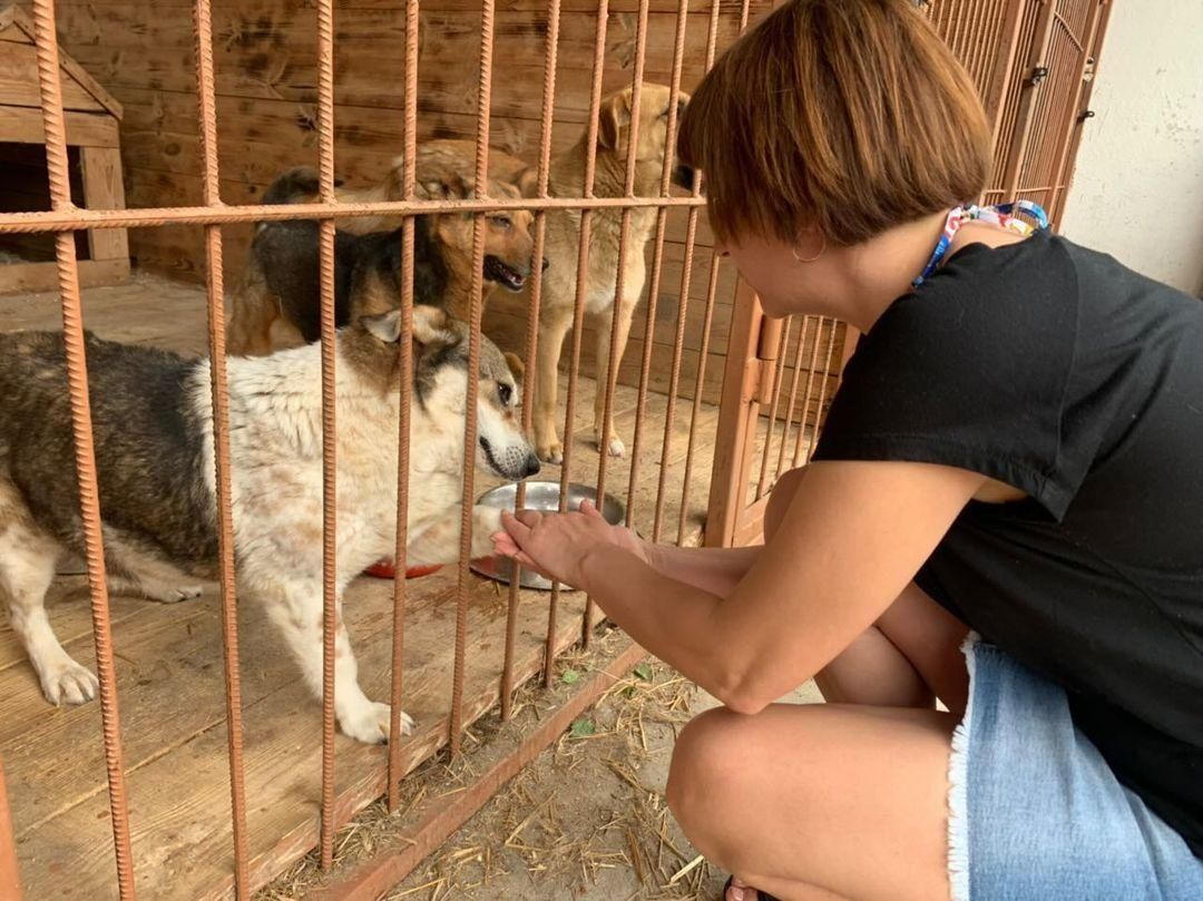
[[(774, 487), (765, 537), (806, 476)], [(909, 585), (816, 676), (823, 706), (704, 713), (672, 754), (669, 806), (742, 885), (782, 901), (948, 896), (952, 731), (965, 710), (966, 626)], [(934, 710), (940, 698), (952, 713)], [(755, 901), (733, 888), (728, 901)]]

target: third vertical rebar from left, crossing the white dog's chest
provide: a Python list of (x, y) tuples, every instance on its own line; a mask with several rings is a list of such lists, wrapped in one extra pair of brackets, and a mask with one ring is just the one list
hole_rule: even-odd
[[(334, 8), (318, 0), (318, 192), (334, 202)], [(334, 333), (334, 220), (319, 225), (321, 278), (321, 869), (334, 863), (334, 642), (338, 616), (338, 432)]]

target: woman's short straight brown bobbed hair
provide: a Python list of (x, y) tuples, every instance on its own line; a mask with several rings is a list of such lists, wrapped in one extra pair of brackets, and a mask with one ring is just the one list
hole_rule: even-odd
[(703, 79), (681, 120), (721, 238), (837, 244), (985, 189), (973, 83), (913, 0), (790, 0)]

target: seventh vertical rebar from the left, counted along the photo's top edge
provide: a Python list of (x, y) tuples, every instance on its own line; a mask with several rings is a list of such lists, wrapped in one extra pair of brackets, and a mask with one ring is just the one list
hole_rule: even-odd
[[(610, 16), (609, 0), (598, 0), (597, 30), (593, 35), (593, 83), (589, 91), (589, 118), (585, 138), (585, 179), (581, 196), (593, 197), (593, 178), (597, 173), (598, 113), (602, 109), (602, 76), (605, 67), (606, 19)], [(616, 198), (629, 203), (629, 197)], [(576, 381), (581, 368), (581, 337), (585, 331), (585, 292), (589, 272), (589, 233), (593, 211), (581, 212), (580, 243), (576, 251), (576, 297), (573, 302), (573, 352), (568, 369), (568, 401), (564, 407), (563, 460), (559, 468), (559, 510), (568, 509), (568, 486), (571, 473), (573, 432), (576, 425)], [(600, 364), (600, 361), (597, 361)], [(594, 385), (595, 389), (595, 385)], [(605, 454), (605, 449), (600, 449)], [(600, 503), (600, 502), (599, 502)], [(547, 611), (547, 646), (544, 654), (543, 681), (551, 684), (552, 664), (556, 652), (556, 615), (559, 606), (559, 583), (551, 586), (551, 604)]]

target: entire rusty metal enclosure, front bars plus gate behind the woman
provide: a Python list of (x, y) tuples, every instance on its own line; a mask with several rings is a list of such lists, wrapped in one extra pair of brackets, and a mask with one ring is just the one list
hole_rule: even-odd
[[(686, 330), (688, 298), (695, 245), (698, 243), (699, 213), (704, 200), (700, 186), (689, 196), (670, 196), (671, 154), (666, 154), (659, 191), (656, 196), (635, 196), (634, 162), (638, 147), (638, 108), (640, 85), (644, 76), (647, 19), (650, 0), (639, 0), (636, 12), (636, 37), (634, 53), (632, 135), (628, 140), (627, 180), (624, 196), (602, 197), (594, 194), (595, 148), (599, 106), (603, 95), (603, 51), (606, 42), (608, 0), (598, 0), (597, 29), (594, 35), (594, 75), (591, 85), (591, 102), (587, 125), (587, 158), (580, 197), (553, 197), (549, 192), (552, 109), (556, 97), (557, 45), (561, 28), (561, 2), (549, 0), (546, 10), (546, 41), (544, 57), (544, 83), (541, 130), (538, 154), (538, 196), (528, 200), (493, 198), (485, 196), (490, 158), (490, 99), (493, 71), (493, 34), (496, 0), (482, 0), (480, 5), (480, 58), (479, 91), (476, 99), (475, 135), (475, 185), (478, 194), (463, 201), (425, 201), (415, 192), (417, 149), (417, 48), (419, 2), (405, 5), (405, 93), (404, 93), (404, 159), (403, 195), (399, 201), (372, 203), (344, 203), (334, 197), (334, 105), (333, 105), (333, 2), (318, 0), (318, 136), (320, 200), (316, 203), (292, 206), (226, 206), (219, 192), (220, 161), (217, 141), (215, 75), (213, 63), (213, 24), (211, 0), (196, 0), (194, 7), (196, 75), (198, 85), (198, 111), (201, 147), (203, 156), (203, 202), (195, 207), (158, 207), (126, 211), (82, 209), (71, 201), (61, 70), (59, 47), (55, 37), (53, 0), (32, 0), (36, 26), (36, 51), (41, 111), (46, 134), (46, 154), (49, 172), (52, 209), (40, 213), (13, 213), (0, 215), (0, 233), (48, 232), (55, 235), (55, 255), (59, 273), (63, 328), (66, 348), (72, 428), (76, 447), (76, 472), (79, 485), (81, 515), (87, 546), (87, 570), (91, 603), (93, 633), (96, 648), (100, 682), (100, 709), (103, 730), (103, 751), (107, 771), (108, 801), (115, 854), (115, 873), (122, 899), (134, 899), (135, 866), (130, 834), (130, 801), (126, 790), (123, 741), (119, 716), (119, 699), (114, 671), (114, 651), (111, 632), (109, 599), (105, 573), (105, 553), (101, 535), (97, 475), (93, 447), (89, 385), (84, 358), (83, 316), (75, 235), (82, 230), (158, 227), (194, 224), (205, 227), (206, 292), (208, 304), (208, 349), (212, 360), (213, 435), (217, 476), (217, 515), (220, 557), (221, 633), (225, 668), (225, 717), (227, 728), (227, 764), (230, 780), (230, 810), (232, 817), (232, 890), (239, 899), (249, 897), (251, 890), (262, 884), (271, 873), (251, 873), (247, 836), (247, 796), (244, 789), (243, 761), (243, 703), (241, 694), (238, 626), (236, 616), (236, 577), (233, 558), (233, 514), (231, 503), (230, 410), (225, 351), (225, 290), (223, 285), (223, 226), (236, 223), (255, 223), (283, 219), (315, 219), (320, 221), (320, 271), (321, 271), (321, 373), (322, 373), (322, 473), (324, 473), (324, 620), (322, 659), (324, 690), (321, 716), (321, 794), (320, 826), (316, 846), (320, 861), (328, 867), (333, 860), (336, 830), (355, 812), (352, 804), (340, 802), (336, 793), (334, 765), (334, 635), (337, 620), (336, 597), (336, 348), (334, 348), (334, 230), (340, 219), (366, 214), (402, 217), (402, 283), (405, 285), (402, 303), (402, 336), (399, 340), (399, 367), (402, 396), (409, 397), (413, 385), (411, 360), (411, 285), (414, 278), (414, 217), (426, 213), (461, 212), (474, 217), (473, 231), (473, 284), (470, 292), (470, 342), (469, 372), (475, 372), (481, 352), (482, 260), (485, 255), (485, 217), (497, 211), (531, 209), (534, 212), (534, 259), (544, 256), (546, 215), (551, 211), (580, 211), (580, 243), (577, 249), (577, 289), (575, 296), (573, 339), (570, 348), (567, 409), (564, 414), (564, 461), (561, 469), (561, 497), (567, 498), (573, 455), (575, 408), (579, 397), (579, 369), (581, 362), (582, 321), (586, 306), (586, 279), (591, 251), (591, 225), (598, 211), (621, 211), (622, 225), (618, 259), (624, 259), (629, 241), (630, 217), (634, 209), (656, 211), (656, 230), (652, 242), (652, 262), (647, 291), (647, 334), (657, 319), (657, 298), (660, 294), (662, 267), (665, 259), (665, 233), (668, 217), (674, 208), (687, 212), (685, 237), (685, 265), (680, 284), (680, 302), (675, 321), (675, 342), (671, 358), (668, 404), (659, 439), (659, 474), (652, 517), (651, 538), (665, 537), (670, 523), (665, 522), (665, 498), (668, 484), (669, 447), (676, 428), (676, 398), (682, 380), (683, 336)], [(986, 192), (988, 201), (1005, 197), (1029, 197), (1044, 203), (1055, 217), (1065, 197), (1072, 171), (1078, 125), (1083, 115), (1084, 96), (1089, 83), (1084, 78), (1092, 71), (1097, 48), (1106, 24), (1107, 0), (934, 0), (926, 4), (935, 26), (965, 63), (974, 83), (982, 91), (994, 123), (995, 174)], [(748, 22), (749, 4), (742, 0), (737, 7), (712, 0), (709, 6), (709, 30), (706, 37), (706, 67), (713, 63), (718, 45), (721, 10), (735, 8), (740, 29)], [(676, 30), (672, 45), (671, 99), (669, 103), (669, 146), (676, 132), (677, 96), (681, 91), (681, 73), (686, 48), (686, 22), (689, 1), (680, 0), (676, 10)], [(716, 309), (716, 292), (721, 262), (712, 251), (709, 261), (705, 307), (703, 310), (701, 352), (694, 373), (693, 403), (689, 411), (688, 449), (683, 462), (680, 516), (676, 539), (686, 530), (686, 511), (694, 475), (695, 443), (699, 429), (699, 409), (703, 403), (703, 384), (711, 330)], [(622, 296), (626, 273), (618, 266), (616, 296)], [(532, 281), (532, 309), (527, 328), (527, 368), (535, 366), (539, 340), (539, 304), (541, 297), (541, 272), (534, 267)], [(617, 360), (622, 348), (617, 338), (618, 316), (614, 316), (609, 342), (609, 366), (604, 369), (608, 379), (597, 390), (605, 392), (603, 434), (615, 415), (614, 396), (617, 380)], [(706, 524), (707, 544), (739, 544), (753, 540), (759, 530), (759, 518), (771, 492), (772, 482), (784, 470), (805, 462), (811, 452), (814, 437), (820, 428), (823, 413), (837, 384), (837, 374), (854, 344), (843, 324), (824, 318), (796, 318), (771, 322), (765, 320), (755, 297), (746, 286), (736, 292), (734, 315), (729, 336), (727, 372), (719, 411), (719, 434), (715, 452), (710, 510)], [(653, 445), (657, 435), (648, 422), (647, 405), (651, 391), (652, 342), (646, 339), (640, 358), (638, 393), (635, 404), (635, 431), (632, 447), (632, 468), (628, 485), (627, 522), (634, 523), (636, 482), (646, 447)], [(468, 380), (467, 428), (464, 432), (466, 460), (470, 461), (476, 445), (476, 381)], [(407, 585), (407, 491), (409, 473), (409, 407), (401, 404), (398, 432), (398, 509), (396, 568), (398, 576), (392, 594), (392, 669), (391, 701), (392, 722), (390, 746), (384, 764), (385, 796), (390, 810), (399, 805), (399, 787), (405, 775), (401, 739), (401, 700), (405, 686), (402, 681), (405, 645)], [(532, 404), (526, 404), (522, 425), (532, 426)], [(606, 455), (599, 455), (595, 485), (604, 496), (608, 481)], [(469, 543), (470, 516), (475, 500), (474, 474), (466, 466), (462, 484), (463, 521), (461, 528), (461, 553), (458, 564), (458, 592), (455, 616), (455, 654), (451, 666), (451, 712), (448, 721), (446, 743), (451, 753), (457, 753), (466, 728), (464, 665), (467, 659), (468, 605), (469, 605)], [(523, 503), (523, 488), (518, 488), (518, 504)], [(563, 503), (563, 500), (562, 500)], [(671, 537), (671, 535), (670, 535)], [(508, 595), (504, 657), (499, 678), (502, 719), (512, 715), (512, 698), (516, 688), (514, 668), (515, 636), (518, 609), (517, 580)], [(547, 615), (547, 638), (544, 654), (544, 678), (550, 682), (557, 645), (557, 617), (561, 613), (558, 586), (552, 589)], [(592, 601), (585, 605), (581, 624), (581, 641), (586, 646), (592, 636), (594, 618)], [(638, 647), (628, 650), (611, 665), (617, 674), (622, 666), (632, 665), (639, 657)], [(399, 879), (413, 867), (422, 853), (429, 850), (442, 836), (449, 834), (460, 822), (470, 816), (484, 800), (496, 790), (502, 778), (516, 769), (555, 739), (557, 730), (567, 725), (565, 716), (579, 710), (565, 706), (537, 733), (528, 736), (523, 747), (506, 759), (494, 771), (486, 773), (455, 804), (438, 817), (423, 823), (419, 841), (405, 854), (381, 863), (363, 875), (348, 894), (386, 887)], [(16, 859), (12, 852), (11, 824), (0, 773), (0, 895), (18, 896)], [(373, 890), (374, 890), (373, 889)]]

